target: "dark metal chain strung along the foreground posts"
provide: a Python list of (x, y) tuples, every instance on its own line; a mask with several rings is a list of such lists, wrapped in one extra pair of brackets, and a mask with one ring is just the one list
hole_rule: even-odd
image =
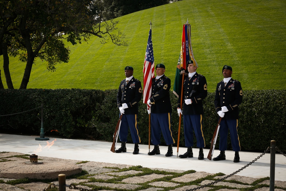
[[(216, 183), (218, 183), (218, 182), (221, 182), (221, 181), (223, 181), (223, 180), (225, 180), (225, 179), (227, 179), (227, 178), (229, 178), (229, 177), (231, 177), (231, 176), (237, 174), (238, 172), (242, 171), (243, 169), (247, 168), (248, 166), (250, 166), (251, 164), (253, 164), (255, 161), (257, 161), (258, 159), (260, 159), (260, 157), (262, 157), (263, 155), (265, 155), (265, 153), (267, 153), (269, 150), (270, 150), (270, 147), (268, 147), (261, 155), (259, 155), (257, 158), (255, 158), (253, 161), (251, 161), (249, 164), (245, 165), (245, 166), (242, 167), (241, 169), (235, 171), (234, 173), (232, 173), (232, 174), (230, 174), (230, 175), (228, 175), (228, 176), (226, 176), (226, 177), (224, 177), (224, 178), (221, 178), (221, 179), (219, 179), (219, 180), (216, 180), (216, 181), (214, 181), (214, 182), (212, 182), (212, 183), (208, 183), (208, 184), (205, 184), (205, 185), (202, 185), (202, 186), (198, 186), (198, 187), (196, 187), (196, 188), (192, 188), (192, 189), (189, 189), (189, 190), (184, 190), (184, 191), (198, 190), (198, 189), (201, 189), (201, 188), (204, 188), (204, 187), (207, 187), (207, 186), (214, 185), (214, 184), (216, 184)], [(285, 155), (284, 153), (282, 153), (282, 152), (278, 149), (278, 147), (276, 147), (276, 150), (279, 151), (281, 154), (283, 154), (283, 155), (286, 157), (286, 155)], [(56, 187), (56, 186), (59, 186), (59, 185), (55, 185), (55, 184), (52, 182), (51, 184), (49, 184), (49, 186), (48, 186), (47, 188), (45, 188), (45, 189), (42, 190), (42, 191), (50, 190), (51, 187)], [(69, 189), (75, 189), (75, 190), (97, 191), (97, 190), (89, 190), (89, 189), (85, 189), (85, 188), (78, 188), (78, 187), (76, 187), (75, 184), (70, 184), (70, 185), (67, 185), (67, 184), (66, 184), (65, 186), (68, 187)]]

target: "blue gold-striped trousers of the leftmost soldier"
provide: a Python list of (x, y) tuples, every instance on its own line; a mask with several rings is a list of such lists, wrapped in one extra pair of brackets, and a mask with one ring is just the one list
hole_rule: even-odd
[(130, 134), (131, 134), (133, 143), (140, 143), (141, 140), (138, 135), (138, 124), (137, 124), (136, 114), (130, 114), (130, 115), (123, 114), (122, 115), (121, 125), (120, 125), (120, 130), (119, 130), (120, 141), (127, 142), (128, 126), (130, 129)]

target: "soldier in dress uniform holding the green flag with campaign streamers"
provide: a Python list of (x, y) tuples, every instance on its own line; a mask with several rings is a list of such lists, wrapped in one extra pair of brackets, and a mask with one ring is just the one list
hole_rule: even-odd
[(202, 100), (206, 98), (208, 90), (206, 78), (196, 72), (197, 67), (193, 61), (189, 60), (187, 64), (188, 78), (184, 80), (184, 104), (183, 112), (180, 109), (181, 97), (178, 98), (177, 110), (183, 115), (184, 120), (184, 137), (187, 152), (179, 155), (180, 158), (193, 157), (192, 147), (194, 145), (193, 131), (196, 135), (197, 147), (200, 148), (198, 159), (204, 159), (203, 147), (205, 147), (204, 133), (202, 129)]

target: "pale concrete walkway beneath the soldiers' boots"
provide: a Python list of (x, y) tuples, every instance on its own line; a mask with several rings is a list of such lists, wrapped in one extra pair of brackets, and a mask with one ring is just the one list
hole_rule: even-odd
[[(133, 155), (134, 144), (126, 144), (126, 153), (113, 153), (110, 151), (111, 142), (105, 141), (91, 141), (91, 140), (78, 140), (78, 139), (58, 139), (50, 138), (48, 142), (54, 141), (54, 144), (48, 148), (47, 141), (36, 141), (37, 136), (21, 136), (0, 134), (0, 152), (19, 152), (25, 154), (33, 154), (38, 149), (39, 144), (42, 151), (37, 153), (39, 156), (55, 157), (69, 160), (82, 160), (105, 162), (114, 164), (126, 164), (133, 166), (143, 166), (147, 168), (164, 168), (173, 170), (196, 170), (197, 172), (218, 173), (222, 172), (226, 175), (241, 169), (249, 162), (253, 161), (262, 153), (255, 152), (239, 152), (239, 163), (233, 162), (234, 152), (226, 151), (226, 160), (223, 161), (210, 161), (206, 158), (208, 149), (204, 149), (204, 160), (198, 160), (198, 149), (194, 148), (193, 158), (177, 158), (176, 147), (173, 147), (174, 155), (172, 157), (165, 157), (168, 148), (160, 146), (160, 155), (149, 156), (148, 145), (139, 144), (140, 153)], [(270, 143), (269, 143), (270, 146)], [(277, 145), (279, 147), (279, 145)], [(117, 143), (116, 148), (120, 147)], [(150, 146), (150, 150), (153, 146)], [(186, 152), (186, 148), (180, 147), (179, 154)], [(215, 150), (214, 156), (219, 154)], [(282, 154), (276, 154), (275, 159), (275, 180), (286, 181), (286, 157)], [(255, 161), (249, 167), (238, 172), (236, 175), (247, 176), (253, 178), (263, 178), (270, 176), (270, 153), (266, 153), (259, 160)]]

